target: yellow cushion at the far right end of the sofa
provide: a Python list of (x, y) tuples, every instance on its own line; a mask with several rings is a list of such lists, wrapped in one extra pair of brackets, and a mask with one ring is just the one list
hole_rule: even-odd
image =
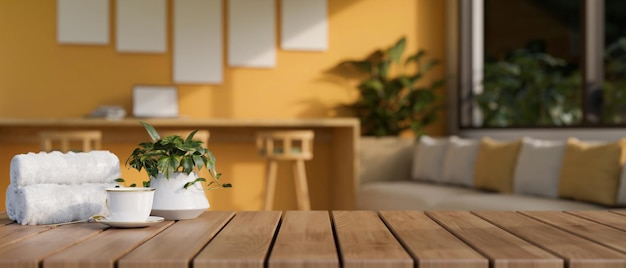
[(594, 145), (569, 138), (559, 176), (559, 197), (615, 205), (625, 145), (626, 139)]

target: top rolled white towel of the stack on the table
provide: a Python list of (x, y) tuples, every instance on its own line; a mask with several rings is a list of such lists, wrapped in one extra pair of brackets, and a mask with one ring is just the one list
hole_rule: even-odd
[(120, 160), (109, 151), (40, 152), (11, 159), (11, 184), (110, 183), (120, 176)]

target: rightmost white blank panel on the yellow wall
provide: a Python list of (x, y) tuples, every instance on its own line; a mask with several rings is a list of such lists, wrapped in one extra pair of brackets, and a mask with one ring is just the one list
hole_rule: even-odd
[(281, 0), (281, 48), (325, 51), (328, 48), (326, 0)]

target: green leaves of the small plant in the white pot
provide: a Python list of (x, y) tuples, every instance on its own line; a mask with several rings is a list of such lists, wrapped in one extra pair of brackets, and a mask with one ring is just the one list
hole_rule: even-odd
[[(126, 165), (138, 171), (145, 170), (149, 178), (156, 178), (162, 173), (169, 179), (174, 172), (183, 172), (187, 175), (194, 170), (206, 168), (212, 180), (207, 183), (209, 189), (230, 188), (230, 183), (220, 183), (221, 173), (215, 169), (215, 157), (203, 142), (194, 140), (197, 130), (192, 131), (187, 138), (178, 135), (161, 137), (157, 130), (146, 122), (140, 122), (146, 129), (152, 141), (142, 142), (126, 160)], [(123, 182), (123, 181), (122, 181)], [(196, 182), (207, 182), (205, 178), (197, 178), (185, 184), (185, 189)], [(150, 182), (144, 182), (149, 186)]]

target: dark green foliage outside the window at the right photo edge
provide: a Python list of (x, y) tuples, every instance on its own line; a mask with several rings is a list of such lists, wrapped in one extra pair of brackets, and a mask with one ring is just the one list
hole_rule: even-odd
[(606, 47), (604, 74), (602, 122), (626, 123), (626, 38)]

